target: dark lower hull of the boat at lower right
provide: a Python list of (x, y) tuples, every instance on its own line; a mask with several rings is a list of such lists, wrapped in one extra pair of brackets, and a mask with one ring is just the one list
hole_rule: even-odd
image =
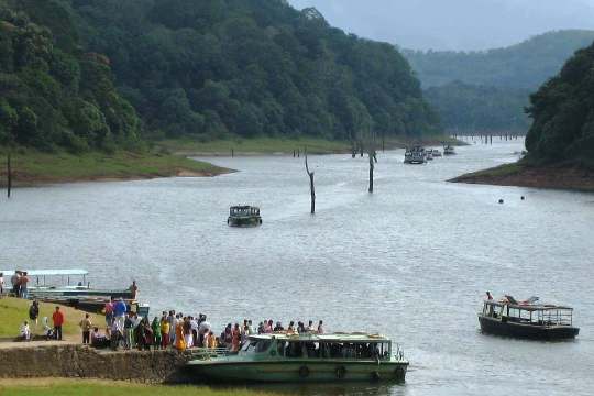
[(568, 340), (578, 337), (579, 328), (571, 326), (535, 326), (502, 321), (496, 318), (479, 316), (481, 331), (486, 334), (521, 338), (530, 340), (554, 341)]

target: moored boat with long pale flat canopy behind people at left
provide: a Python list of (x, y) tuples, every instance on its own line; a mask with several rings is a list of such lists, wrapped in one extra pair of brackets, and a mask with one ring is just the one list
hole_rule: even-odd
[[(136, 296), (131, 288), (99, 289), (87, 282), (86, 270), (23, 270), (29, 277), (28, 297), (44, 302), (67, 305), (88, 312), (100, 312), (111, 298), (122, 298), (134, 304)], [(10, 278), (14, 271), (3, 271)]]

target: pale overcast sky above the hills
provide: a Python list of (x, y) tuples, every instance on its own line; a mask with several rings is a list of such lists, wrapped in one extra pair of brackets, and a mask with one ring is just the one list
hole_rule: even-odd
[(560, 29), (594, 30), (594, 0), (289, 0), (337, 28), (415, 50), (486, 50)]

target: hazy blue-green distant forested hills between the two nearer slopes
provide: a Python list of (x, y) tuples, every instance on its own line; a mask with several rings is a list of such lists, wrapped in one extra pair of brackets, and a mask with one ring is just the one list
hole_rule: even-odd
[(403, 51), (443, 127), (459, 132), (526, 133), (529, 92), (559, 72), (594, 31), (558, 31), (484, 52)]

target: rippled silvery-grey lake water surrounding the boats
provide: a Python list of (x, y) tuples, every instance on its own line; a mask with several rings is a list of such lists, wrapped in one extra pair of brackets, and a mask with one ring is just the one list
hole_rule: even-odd
[[(405, 385), (292, 388), (304, 395), (592, 395), (594, 195), (444, 182), (522, 148), (494, 143), (420, 166), (380, 153), (373, 195), (366, 158), (311, 156), (316, 216), (293, 157), (207, 158), (241, 170), (216, 178), (18, 189), (0, 200), (0, 267), (82, 267), (96, 286), (134, 278), (153, 312), (206, 312), (218, 328), (323, 319), (382, 332), (411, 362)], [(240, 202), (262, 207), (263, 227), (227, 227)], [(487, 289), (574, 306), (580, 337), (482, 336)]]

